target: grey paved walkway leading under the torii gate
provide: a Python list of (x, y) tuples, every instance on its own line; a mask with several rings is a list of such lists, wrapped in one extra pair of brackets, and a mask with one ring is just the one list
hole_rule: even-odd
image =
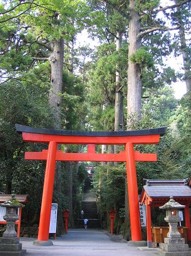
[(53, 246), (34, 246), (35, 239), (21, 238), (26, 256), (154, 256), (156, 250), (139, 250), (127, 246), (127, 242), (111, 236), (104, 230), (69, 230), (67, 235), (57, 237)]

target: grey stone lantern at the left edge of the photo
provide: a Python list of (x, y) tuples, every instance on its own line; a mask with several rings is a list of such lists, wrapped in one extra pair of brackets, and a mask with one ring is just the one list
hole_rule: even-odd
[(0, 206), (6, 207), (6, 214), (3, 219), (7, 221), (6, 231), (4, 231), (3, 237), (0, 237), (0, 255), (4, 255), (5, 252), (9, 252), (8, 255), (23, 255), (26, 250), (22, 250), (22, 244), (19, 242), (19, 237), (15, 231), (15, 222), (19, 218), (17, 210), (23, 205), (12, 195), (11, 200), (0, 204)]

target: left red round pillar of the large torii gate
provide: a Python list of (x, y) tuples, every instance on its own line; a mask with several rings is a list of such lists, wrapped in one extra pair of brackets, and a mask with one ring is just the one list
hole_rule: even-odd
[(54, 174), (55, 174), (55, 158), (57, 152), (57, 142), (50, 141), (48, 146), (48, 154), (46, 160), (46, 170), (44, 177), (43, 197), (40, 211), (40, 223), (38, 241), (48, 241), (50, 213), (52, 206)]

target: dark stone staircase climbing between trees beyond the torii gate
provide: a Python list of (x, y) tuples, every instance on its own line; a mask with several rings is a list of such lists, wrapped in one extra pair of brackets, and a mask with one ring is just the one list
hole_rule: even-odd
[[(96, 201), (82, 201), (83, 219), (88, 219), (87, 228), (101, 228)], [(84, 228), (83, 219), (78, 219), (78, 228)]]

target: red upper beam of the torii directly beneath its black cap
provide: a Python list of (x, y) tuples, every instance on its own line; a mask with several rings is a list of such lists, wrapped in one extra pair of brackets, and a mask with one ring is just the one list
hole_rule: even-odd
[(90, 136), (63, 136), (52, 134), (22, 133), (22, 138), (27, 142), (49, 143), (55, 141), (60, 144), (96, 144), (96, 145), (125, 145), (133, 144), (155, 144), (159, 142), (160, 134), (124, 136), (124, 137), (90, 137)]

